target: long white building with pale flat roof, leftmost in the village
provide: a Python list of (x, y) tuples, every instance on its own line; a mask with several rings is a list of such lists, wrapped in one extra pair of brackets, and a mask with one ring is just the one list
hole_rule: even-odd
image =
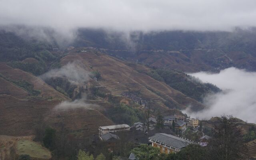
[(118, 125), (112, 125), (112, 126), (100, 126), (99, 127), (99, 137), (104, 134), (107, 134), (107, 133), (129, 131), (129, 130), (130, 130), (130, 126), (127, 124), (118, 124)]

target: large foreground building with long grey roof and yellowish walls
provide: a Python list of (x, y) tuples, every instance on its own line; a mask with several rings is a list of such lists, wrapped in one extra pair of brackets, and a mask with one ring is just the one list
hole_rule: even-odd
[(157, 133), (154, 136), (149, 137), (149, 142), (152, 143), (152, 146), (160, 148), (161, 153), (166, 154), (179, 152), (182, 148), (194, 143), (190, 140), (165, 133)]

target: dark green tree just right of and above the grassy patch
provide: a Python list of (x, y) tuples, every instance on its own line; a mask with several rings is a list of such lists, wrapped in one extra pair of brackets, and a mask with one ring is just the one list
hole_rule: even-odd
[(54, 130), (53, 128), (50, 128), (50, 127), (45, 129), (43, 143), (46, 148), (53, 149), (55, 132), (56, 132), (56, 130)]

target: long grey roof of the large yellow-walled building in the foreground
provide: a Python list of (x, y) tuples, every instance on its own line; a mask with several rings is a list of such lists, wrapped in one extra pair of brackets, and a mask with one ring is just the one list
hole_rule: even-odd
[(193, 143), (189, 140), (185, 140), (183, 138), (179, 138), (179, 137), (173, 136), (171, 134), (165, 134), (165, 133), (157, 133), (150, 138), (155, 139), (159, 142), (162, 142), (164, 144), (167, 144), (168, 146), (172, 146), (175, 148), (183, 148), (183, 147), (188, 146), (189, 144)]

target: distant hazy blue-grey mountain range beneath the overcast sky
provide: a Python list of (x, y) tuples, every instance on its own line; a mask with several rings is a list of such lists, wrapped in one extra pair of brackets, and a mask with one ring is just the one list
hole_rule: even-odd
[(256, 70), (256, 29), (233, 32), (105, 32), (80, 29), (73, 45), (93, 46), (120, 59), (184, 72), (234, 66)]

